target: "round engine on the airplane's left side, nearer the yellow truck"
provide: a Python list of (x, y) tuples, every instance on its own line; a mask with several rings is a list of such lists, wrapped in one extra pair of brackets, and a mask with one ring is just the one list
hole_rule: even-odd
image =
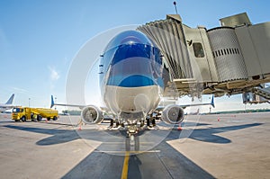
[(103, 121), (103, 112), (96, 106), (86, 106), (81, 112), (81, 118), (86, 124), (98, 124)]

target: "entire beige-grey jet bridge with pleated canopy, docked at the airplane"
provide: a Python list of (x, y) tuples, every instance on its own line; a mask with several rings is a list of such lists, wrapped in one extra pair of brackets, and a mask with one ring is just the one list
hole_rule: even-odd
[(163, 52), (175, 95), (241, 94), (270, 82), (270, 22), (252, 25), (247, 13), (220, 19), (222, 26), (190, 28), (178, 14), (138, 27)]

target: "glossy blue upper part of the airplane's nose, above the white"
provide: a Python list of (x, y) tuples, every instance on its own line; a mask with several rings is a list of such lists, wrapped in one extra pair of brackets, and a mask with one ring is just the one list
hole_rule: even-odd
[(160, 51), (139, 31), (123, 31), (105, 49), (103, 61), (110, 61), (106, 85), (139, 87), (159, 85)]

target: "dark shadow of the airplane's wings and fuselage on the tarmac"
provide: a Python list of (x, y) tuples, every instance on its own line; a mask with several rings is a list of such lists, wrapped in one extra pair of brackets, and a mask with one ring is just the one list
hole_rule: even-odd
[[(196, 139), (211, 143), (229, 143), (229, 139), (217, 136), (221, 132), (231, 130), (243, 130), (261, 125), (262, 123), (252, 123), (237, 126), (227, 126), (219, 128), (206, 128), (193, 130), (189, 139)], [(205, 123), (186, 123), (186, 126), (204, 126)], [(42, 134), (52, 135), (49, 138), (41, 139), (36, 144), (40, 146), (65, 143), (76, 139), (81, 139), (76, 130), (40, 129), (23, 126), (5, 125), (4, 127), (14, 130), (25, 130)], [(156, 130), (153, 134), (157, 134)], [(81, 130), (85, 134), (98, 133), (98, 130)], [(93, 132), (93, 133), (91, 133)], [(118, 130), (106, 130), (112, 135), (122, 135)], [(160, 131), (159, 131), (160, 132)], [(166, 141), (179, 139), (184, 130), (170, 130), (163, 141), (161, 141), (152, 153), (141, 153), (131, 155), (129, 159), (128, 178), (215, 178), (197, 166), (192, 160), (184, 157), (175, 148), (170, 147)], [(100, 135), (94, 135), (94, 139), (103, 141)], [(103, 146), (103, 144), (101, 145)], [(98, 147), (100, 148), (100, 147)], [(121, 178), (124, 156), (111, 155), (99, 152), (98, 148), (85, 157), (79, 164), (74, 166), (62, 178)], [(98, 167), (97, 166), (100, 166)]]

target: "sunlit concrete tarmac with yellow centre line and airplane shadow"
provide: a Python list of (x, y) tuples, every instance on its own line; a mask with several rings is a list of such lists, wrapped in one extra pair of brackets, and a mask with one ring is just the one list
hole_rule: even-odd
[(15, 122), (0, 114), (2, 178), (270, 178), (270, 112), (185, 116), (157, 123), (125, 150), (124, 130), (79, 116)]

